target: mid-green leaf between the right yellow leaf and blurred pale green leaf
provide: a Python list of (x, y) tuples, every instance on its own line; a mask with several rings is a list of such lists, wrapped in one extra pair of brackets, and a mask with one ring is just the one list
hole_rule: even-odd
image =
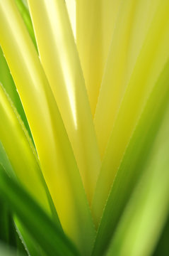
[(166, 63), (134, 131), (107, 200), (98, 228), (93, 255), (102, 255), (151, 151), (165, 114), (169, 96), (169, 62)]

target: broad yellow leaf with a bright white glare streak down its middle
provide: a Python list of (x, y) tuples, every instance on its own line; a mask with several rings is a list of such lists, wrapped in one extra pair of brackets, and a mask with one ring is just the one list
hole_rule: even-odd
[(100, 171), (100, 155), (66, 5), (62, 0), (28, 0), (28, 4), (40, 60), (91, 202)]

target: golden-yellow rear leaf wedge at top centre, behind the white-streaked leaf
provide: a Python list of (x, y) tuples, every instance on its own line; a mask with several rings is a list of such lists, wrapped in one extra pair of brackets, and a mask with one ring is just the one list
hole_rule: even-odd
[(120, 0), (76, 1), (76, 44), (93, 116), (119, 5)]

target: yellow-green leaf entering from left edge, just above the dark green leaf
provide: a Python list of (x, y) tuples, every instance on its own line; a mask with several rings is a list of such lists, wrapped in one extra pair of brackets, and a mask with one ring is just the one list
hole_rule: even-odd
[[(24, 125), (16, 110), (12, 107), (12, 103), (8, 99), (1, 85), (0, 116), (0, 140), (4, 146), (6, 154), (8, 155), (8, 159), (11, 162), (13, 171), (15, 172), (18, 180), (21, 181), (25, 188), (27, 188), (36, 200), (40, 202), (42, 207), (44, 207), (47, 212), (50, 212), (45, 189), (45, 181), (43, 180), (40, 166), (37, 158), (35, 157), (35, 149), (33, 149), (33, 144), (28, 137)], [(7, 167), (6, 169), (10, 171), (10, 175), (12, 175), (13, 173), (11, 168), (6, 166), (8, 164), (8, 159), (4, 157), (4, 167)]]

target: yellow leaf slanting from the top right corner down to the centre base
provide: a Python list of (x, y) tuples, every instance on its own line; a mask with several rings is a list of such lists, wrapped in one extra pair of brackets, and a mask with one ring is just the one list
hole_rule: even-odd
[(93, 199), (93, 210), (97, 221), (100, 220), (110, 188), (141, 112), (168, 60), (168, 15), (169, 2), (163, 1), (151, 23), (112, 129)]

